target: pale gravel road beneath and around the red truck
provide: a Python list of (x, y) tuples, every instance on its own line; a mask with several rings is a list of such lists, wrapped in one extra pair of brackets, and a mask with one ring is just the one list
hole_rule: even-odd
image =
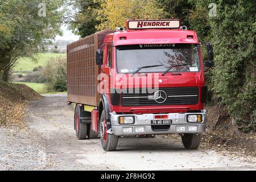
[(172, 135), (120, 138), (117, 151), (105, 152), (100, 139), (76, 139), (66, 94), (44, 96), (27, 109), (28, 129), (0, 128), (1, 170), (256, 169), (255, 158), (185, 150)]

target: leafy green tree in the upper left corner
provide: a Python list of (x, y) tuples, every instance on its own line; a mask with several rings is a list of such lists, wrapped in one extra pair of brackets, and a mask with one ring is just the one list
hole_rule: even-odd
[[(9, 81), (19, 57), (32, 56), (56, 34), (61, 34), (63, 0), (10, 0), (0, 2), (0, 76)], [(42, 5), (42, 4), (41, 4)], [(42, 10), (42, 11), (40, 11)], [(46, 16), (44, 16), (46, 12)]]

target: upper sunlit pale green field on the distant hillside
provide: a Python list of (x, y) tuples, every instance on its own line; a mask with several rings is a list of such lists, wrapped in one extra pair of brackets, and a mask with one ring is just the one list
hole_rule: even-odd
[(46, 62), (51, 59), (51, 57), (59, 57), (59, 56), (63, 56), (65, 57), (66, 54), (65, 53), (39, 53), (38, 55), (36, 55), (36, 59), (38, 59), (38, 63), (35, 63), (34, 61), (32, 61), (31, 58), (28, 57), (24, 57), (19, 59), (18, 64), (16, 64), (16, 66), (14, 67), (14, 72), (26, 72), (28, 71), (28, 69), (30, 69), (30, 71), (33, 70), (33, 68), (38, 67), (38, 66), (44, 66), (44, 64), (46, 64)]

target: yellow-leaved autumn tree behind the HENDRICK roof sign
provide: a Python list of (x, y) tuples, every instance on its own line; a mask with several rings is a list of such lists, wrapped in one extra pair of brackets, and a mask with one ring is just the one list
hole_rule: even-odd
[(96, 10), (98, 24), (97, 30), (105, 28), (125, 27), (126, 20), (136, 19), (159, 19), (166, 14), (155, 0), (98, 0), (101, 9)]

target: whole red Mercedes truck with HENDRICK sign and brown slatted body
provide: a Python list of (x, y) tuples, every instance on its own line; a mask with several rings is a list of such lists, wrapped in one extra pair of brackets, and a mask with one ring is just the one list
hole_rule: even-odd
[(214, 65), (212, 44), (203, 43), (207, 61), (180, 19), (132, 19), (69, 44), (76, 137), (100, 136), (102, 148), (114, 151), (119, 137), (180, 134), (185, 148), (198, 148), (207, 122), (204, 66)]

